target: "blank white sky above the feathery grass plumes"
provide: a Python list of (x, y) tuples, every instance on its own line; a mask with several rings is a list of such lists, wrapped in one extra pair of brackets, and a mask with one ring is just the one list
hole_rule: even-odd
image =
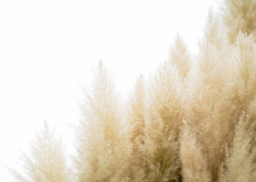
[(1, 0), (0, 180), (20, 164), (44, 119), (72, 147), (81, 80), (100, 58), (123, 93), (168, 58), (177, 33), (196, 53), (222, 0)]

